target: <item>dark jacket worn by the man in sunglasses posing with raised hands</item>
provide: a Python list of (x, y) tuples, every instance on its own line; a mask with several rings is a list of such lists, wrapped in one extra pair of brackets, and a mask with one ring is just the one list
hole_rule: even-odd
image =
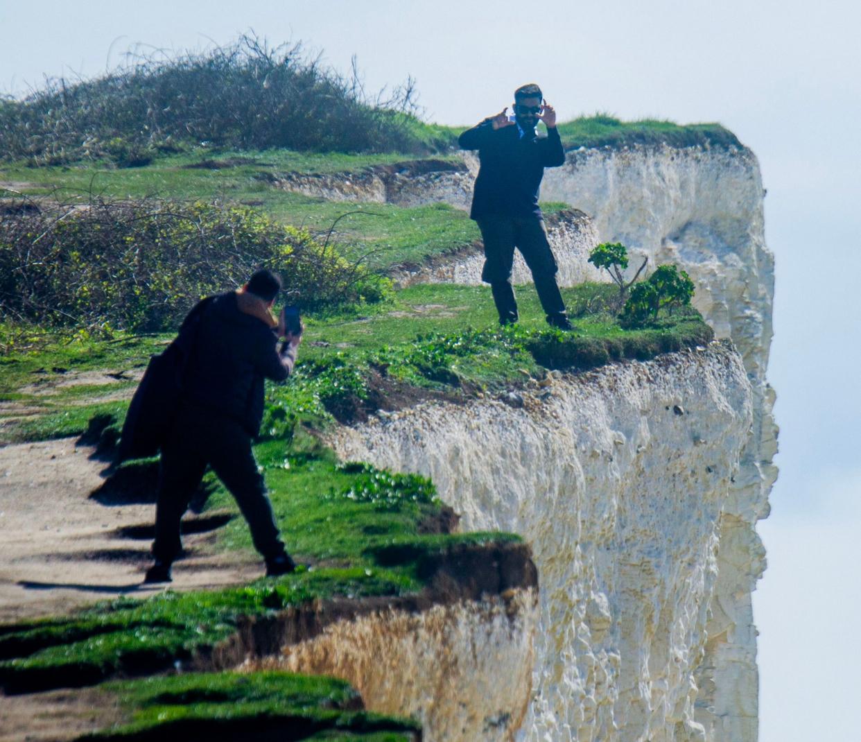
[(565, 163), (559, 132), (548, 129), (546, 137), (529, 132), (520, 137), (517, 126), (494, 130), (492, 119), (461, 134), (461, 149), (478, 150), (481, 163), (475, 178), (473, 207), (469, 216), (541, 216), (538, 191), (544, 168)]

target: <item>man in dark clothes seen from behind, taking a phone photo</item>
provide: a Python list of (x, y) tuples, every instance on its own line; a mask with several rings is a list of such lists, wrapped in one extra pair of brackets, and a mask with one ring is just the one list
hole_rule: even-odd
[(258, 270), (238, 291), (202, 300), (183, 321), (180, 338), (193, 335), (177, 416), (161, 446), (155, 564), (147, 583), (170, 582), (170, 566), (182, 551), (180, 520), (207, 466), (236, 499), (266, 574), (295, 569), (251, 451), (263, 420), (263, 380), (287, 379), (301, 340), (298, 317), (291, 329), (285, 312), (277, 320), (272, 315), (280, 290), (277, 275)]

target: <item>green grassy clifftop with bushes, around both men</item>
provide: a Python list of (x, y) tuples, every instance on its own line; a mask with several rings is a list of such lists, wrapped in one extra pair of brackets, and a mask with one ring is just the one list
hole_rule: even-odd
[[(286, 386), (268, 387), (256, 448), (288, 549), (313, 571), (0, 626), (0, 682), (9, 692), (152, 676), (100, 686), (121, 699), (124, 726), (93, 739), (192, 739), (213, 725), (223, 735), (249, 723), (266, 733), (267, 724), (304, 730), (282, 739), (413, 739), (413, 722), (356, 708), (344, 683), (260, 673), (171, 677), (177, 666), (212, 669), (212, 652), (243, 621), (333, 600), (412, 600), (431, 589), (445, 560), (468, 574), (470, 559), (490, 563), (500, 549), (528, 559), (515, 535), (452, 533), (456, 517), (432, 482), (338, 462), (319, 433), (418, 400), (469, 404), (490, 396), (517, 405), (523, 388), (539, 386), (551, 369), (644, 360), (712, 337), (691, 309), (624, 329), (616, 288), (606, 284), (563, 289), (573, 333), (548, 329), (531, 287), (518, 289), (522, 320), (506, 329), (486, 288), (395, 290), (381, 275), (394, 263), (474, 245), (479, 233), (466, 213), (443, 204), (326, 201), (281, 189), (278, 175), (349, 178), (428, 153), (456, 158), (461, 129), (419, 121), (408, 88), (369, 101), (354, 82), (320, 69), (298, 47), (245, 39), (209, 56), (75, 86), (52, 83), (26, 101), (0, 102), (0, 443), (82, 436), (109, 449), (148, 357), (170, 341), (199, 292), (232, 288), (246, 275), (251, 242), (255, 261), (291, 271), (313, 263), (319, 272), (307, 273), (306, 293), (317, 276), (348, 281), (344, 290), (329, 287), (333, 299), (309, 303), (300, 362)], [(309, 104), (290, 108), (297, 98)], [(324, 110), (332, 99), (337, 105)], [(568, 149), (738, 145), (718, 125), (600, 115), (560, 128)], [(127, 228), (130, 221), (146, 229)], [(157, 257), (147, 272), (134, 272)], [(207, 272), (211, 280), (201, 281)], [(355, 275), (375, 291), (346, 290)], [(118, 292), (122, 276), (128, 290)], [(164, 284), (159, 301), (170, 312), (145, 322), (156, 283)], [(59, 307), (60, 288), (70, 287)], [(22, 298), (28, 302), (15, 302)], [(134, 311), (115, 311), (133, 302)], [(108, 482), (113, 495), (99, 497), (133, 484), (151, 503), (157, 467), (124, 465)], [(251, 553), (231, 498), (213, 479), (208, 491), (206, 508), (224, 520), (206, 548)], [(121, 492), (120, 501), (130, 500)]]

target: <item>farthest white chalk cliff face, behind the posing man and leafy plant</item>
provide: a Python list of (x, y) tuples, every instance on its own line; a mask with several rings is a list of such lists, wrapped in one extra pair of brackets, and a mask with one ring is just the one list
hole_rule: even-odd
[[(474, 156), (464, 161), (476, 170)], [(706, 627), (711, 639), (697, 676), (697, 718), (709, 739), (756, 739), (751, 593), (765, 569), (765, 553), (754, 526), (768, 515), (768, 493), (777, 478), (771, 463), (777, 452), (775, 395), (765, 377), (774, 261), (765, 247), (764, 193), (759, 164), (743, 148), (581, 149), (568, 152), (561, 168), (547, 170), (542, 185), (542, 199), (564, 201), (585, 213), (563, 215), (562, 228), (548, 220), (562, 285), (602, 280), (585, 263), (599, 242), (629, 248), (629, 277), (642, 257), (652, 267), (677, 264), (696, 284), (694, 303), (717, 337), (732, 339), (739, 350), (752, 386), (753, 424), (723, 508), (719, 578)], [(460, 201), (458, 195), (451, 202)], [(431, 280), (450, 275), (477, 283), (479, 265), (478, 255), (458, 256), (448, 273), (436, 266)], [(516, 281), (529, 280), (524, 268), (516, 271)]]

